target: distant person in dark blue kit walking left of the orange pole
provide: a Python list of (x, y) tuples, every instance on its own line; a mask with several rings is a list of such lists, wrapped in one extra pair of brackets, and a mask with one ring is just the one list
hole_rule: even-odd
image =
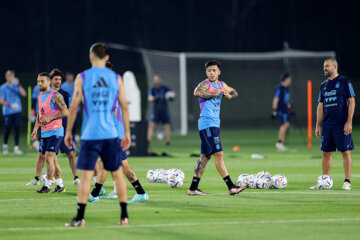
[(273, 114), (274, 118), (278, 117), (280, 120), (279, 140), (275, 144), (278, 151), (286, 151), (284, 145), (286, 132), (290, 127), (290, 115), (292, 110), (290, 104), (289, 86), (291, 84), (291, 76), (285, 73), (281, 78), (281, 83), (277, 86), (275, 96), (273, 99)]

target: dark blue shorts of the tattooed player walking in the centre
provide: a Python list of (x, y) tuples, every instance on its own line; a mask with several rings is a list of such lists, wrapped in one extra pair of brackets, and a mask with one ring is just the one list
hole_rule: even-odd
[(199, 131), (201, 139), (201, 154), (210, 156), (221, 152), (220, 128), (210, 127)]

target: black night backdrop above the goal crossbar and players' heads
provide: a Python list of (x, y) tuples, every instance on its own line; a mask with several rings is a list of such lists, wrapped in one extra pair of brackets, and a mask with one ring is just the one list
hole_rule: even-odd
[[(335, 51), (340, 73), (359, 89), (356, 1), (42, 0), (0, 6), (0, 73), (14, 69), (25, 87), (54, 67), (75, 73), (88, 68), (88, 49), (96, 41), (176, 52), (278, 51), (286, 41), (295, 49)], [(143, 71), (138, 60), (129, 56), (117, 70)]]

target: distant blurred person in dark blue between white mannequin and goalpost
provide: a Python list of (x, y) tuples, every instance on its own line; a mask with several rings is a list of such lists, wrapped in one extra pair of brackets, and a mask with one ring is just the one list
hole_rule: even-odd
[(174, 91), (172, 91), (169, 87), (162, 85), (160, 76), (154, 76), (154, 87), (152, 87), (148, 92), (148, 101), (154, 102), (154, 105), (151, 113), (147, 138), (148, 141), (151, 142), (156, 124), (162, 123), (165, 130), (166, 146), (170, 146), (171, 135), (168, 100), (171, 100), (172, 98), (166, 97), (168, 92), (172, 92), (173, 97), (175, 96)]

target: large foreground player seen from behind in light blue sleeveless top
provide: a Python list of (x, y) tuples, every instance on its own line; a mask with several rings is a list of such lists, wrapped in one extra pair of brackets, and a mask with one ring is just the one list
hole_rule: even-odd
[[(72, 145), (72, 128), (77, 114), (79, 103), (84, 99), (83, 122), (81, 131), (81, 145), (76, 167), (82, 170), (81, 182), (78, 191), (77, 215), (68, 227), (85, 226), (84, 214), (90, 194), (91, 178), (98, 157), (104, 168), (111, 171), (116, 184), (116, 192), (121, 208), (120, 224), (128, 225), (127, 189), (122, 173), (120, 159), (121, 148), (125, 151), (131, 144), (129, 112), (126, 104), (124, 86), (121, 78), (115, 72), (105, 67), (109, 59), (107, 46), (104, 43), (95, 43), (90, 48), (90, 62), (92, 68), (78, 74), (75, 79), (74, 94), (68, 117), (65, 144)], [(122, 109), (125, 134), (119, 141), (117, 123), (114, 117), (116, 102)]]

